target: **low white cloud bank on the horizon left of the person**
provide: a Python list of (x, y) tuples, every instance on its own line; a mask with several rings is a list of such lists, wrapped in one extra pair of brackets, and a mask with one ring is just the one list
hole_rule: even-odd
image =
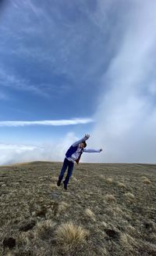
[(0, 164), (15, 164), (33, 160), (64, 160), (66, 150), (77, 140), (73, 132), (57, 143), (44, 143), (43, 145), (15, 145), (0, 144)]

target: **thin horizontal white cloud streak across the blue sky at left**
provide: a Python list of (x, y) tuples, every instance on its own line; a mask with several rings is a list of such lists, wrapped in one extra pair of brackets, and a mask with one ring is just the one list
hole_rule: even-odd
[(93, 122), (91, 118), (73, 118), (69, 120), (44, 120), (44, 121), (0, 121), (0, 126), (27, 126), (27, 125), (74, 125), (74, 124), (88, 124)]

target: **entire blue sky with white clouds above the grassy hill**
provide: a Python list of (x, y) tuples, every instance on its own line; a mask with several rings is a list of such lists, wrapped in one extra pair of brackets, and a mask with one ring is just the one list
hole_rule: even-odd
[(146, 0), (3, 1), (0, 164), (63, 160), (85, 133), (104, 151), (83, 161), (155, 162), (155, 11)]

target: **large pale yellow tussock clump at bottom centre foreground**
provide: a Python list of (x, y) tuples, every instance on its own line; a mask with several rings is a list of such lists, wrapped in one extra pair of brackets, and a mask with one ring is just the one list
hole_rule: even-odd
[(55, 230), (55, 241), (64, 245), (83, 243), (89, 235), (86, 229), (73, 222), (66, 222), (58, 226)]

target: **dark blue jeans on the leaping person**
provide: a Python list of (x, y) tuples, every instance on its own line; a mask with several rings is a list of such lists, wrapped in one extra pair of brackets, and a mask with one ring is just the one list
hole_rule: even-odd
[(64, 174), (66, 172), (66, 169), (68, 168), (68, 172), (67, 172), (67, 175), (66, 175), (66, 178), (65, 178), (65, 181), (64, 181), (65, 185), (68, 184), (69, 179), (70, 179), (70, 177), (71, 177), (71, 175), (73, 173), (73, 166), (74, 166), (74, 163), (65, 158), (65, 160), (63, 162), (61, 173), (59, 175), (60, 182), (62, 181), (62, 178), (63, 178), (63, 176), (64, 176)]

